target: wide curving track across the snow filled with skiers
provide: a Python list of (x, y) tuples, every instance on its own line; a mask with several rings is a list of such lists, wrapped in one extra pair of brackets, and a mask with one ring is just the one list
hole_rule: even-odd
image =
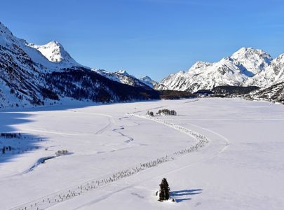
[[(137, 114), (132, 114), (133, 116), (137, 116), (140, 118), (145, 118), (147, 120), (151, 120), (144, 116), (139, 116)], [(71, 188), (67, 188), (65, 190), (60, 190), (57, 193), (53, 193), (50, 195), (46, 195), (45, 197), (41, 197), (32, 202), (28, 202), (26, 204), (22, 204), (14, 209), (25, 209), (25, 210), (39, 210), (39, 209), (47, 209), (49, 207), (53, 207), (54, 205), (65, 202), (67, 200), (72, 199), (73, 197), (77, 197), (79, 195), (84, 195), (88, 193), (90, 190), (95, 190), (97, 188), (101, 188), (102, 186), (106, 186), (109, 183), (113, 183), (114, 181), (118, 181), (120, 179), (132, 176), (133, 174), (137, 174), (146, 169), (157, 167), (158, 165), (163, 164), (164, 162), (169, 162), (174, 160), (180, 155), (184, 155), (185, 153), (191, 153), (194, 151), (198, 151), (199, 148), (204, 147), (208, 142), (208, 138), (203, 136), (202, 134), (198, 134), (192, 130), (189, 130), (180, 125), (176, 125), (174, 123), (168, 123), (163, 120), (154, 120), (157, 123), (162, 123), (163, 125), (167, 125), (168, 127), (172, 127), (175, 130), (179, 130), (184, 134), (189, 135), (190, 137), (194, 137), (196, 139), (196, 144), (190, 146), (189, 148), (184, 148), (180, 151), (176, 151), (175, 153), (165, 155), (160, 158), (156, 158), (156, 160), (151, 160), (148, 162), (140, 163), (140, 165), (136, 165), (134, 167), (130, 167), (128, 169), (121, 170), (120, 172), (116, 172), (114, 174), (104, 175), (102, 178), (92, 179), (85, 183), (81, 183), (80, 185), (73, 186)]]

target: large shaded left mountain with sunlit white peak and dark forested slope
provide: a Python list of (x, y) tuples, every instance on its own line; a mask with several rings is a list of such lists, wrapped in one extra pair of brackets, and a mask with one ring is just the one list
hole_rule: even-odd
[[(128, 80), (126, 72), (117, 74)], [(158, 93), (140, 80), (131, 78), (129, 83), (135, 87), (81, 66), (56, 41), (27, 43), (0, 23), (0, 108), (53, 104), (63, 97), (94, 102), (158, 98)]]

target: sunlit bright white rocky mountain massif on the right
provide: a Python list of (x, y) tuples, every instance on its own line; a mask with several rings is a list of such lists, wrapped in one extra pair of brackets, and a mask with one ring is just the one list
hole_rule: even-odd
[(196, 92), (220, 85), (269, 87), (284, 80), (283, 57), (272, 59), (263, 50), (241, 48), (219, 62), (196, 62), (188, 71), (170, 74), (154, 89)]

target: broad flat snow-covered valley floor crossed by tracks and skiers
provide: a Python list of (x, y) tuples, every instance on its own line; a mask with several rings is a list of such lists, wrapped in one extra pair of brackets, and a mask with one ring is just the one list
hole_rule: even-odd
[[(177, 116), (146, 117), (158, 109)], [(0, 119), (0, 148), (11, 146), (0, 154), (0, 209), (284, 209), (280, 104), (74, 104)], [(176, 202), (157, 201), (164, 177)]]

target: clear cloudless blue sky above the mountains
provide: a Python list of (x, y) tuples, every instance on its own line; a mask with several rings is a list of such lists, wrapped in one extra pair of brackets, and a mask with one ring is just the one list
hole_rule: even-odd
[(29, 42), (59, 41), (86, 66), (161, 80), (243, 46), (280, 55), (283, 2), (9, 0), (1, 2), (0, 21)]

